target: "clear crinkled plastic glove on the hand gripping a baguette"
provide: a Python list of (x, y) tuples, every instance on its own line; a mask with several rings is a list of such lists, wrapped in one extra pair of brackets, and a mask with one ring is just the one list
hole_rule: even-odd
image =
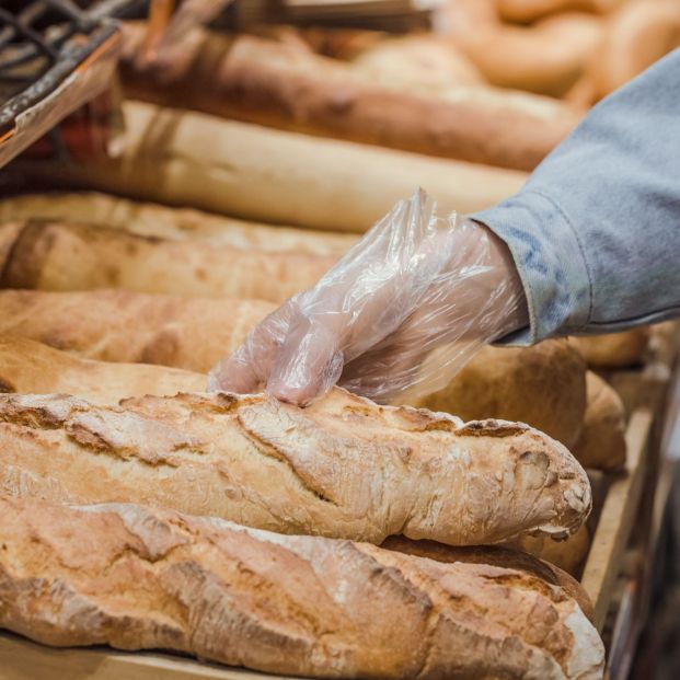
[(420, 189), (253, 329), (208, 389), (304, 405), (339, 383), (393, 401), (445, 387), (484, 344), (527, 323), (506, 245), (473, 221), (438, 218)]

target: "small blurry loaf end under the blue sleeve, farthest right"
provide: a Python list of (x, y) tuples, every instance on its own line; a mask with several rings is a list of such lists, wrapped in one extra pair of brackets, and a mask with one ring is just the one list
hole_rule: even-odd
[(623, 368), (639, 364), (647, 354), (652, 333), (649, 327), (621, 333), (572, 337), (569, 342), (593, 368)]

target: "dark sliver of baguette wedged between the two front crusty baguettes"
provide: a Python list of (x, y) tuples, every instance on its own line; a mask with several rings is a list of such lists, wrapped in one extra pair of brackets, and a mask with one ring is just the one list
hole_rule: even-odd
[[(566, 541), (545, 540), (546, 544), (567, 545), (584, 531), (581, 527)], [(533, 537), (527, 537), (531, 538)], [(529, 551), (514, 550), (505, 545), (445, 545), (435, 541), (413, 541), (403, 535), (392, 535), (380, 548), (395, 550), (407, 555), (427, 557), (437, 562), (464, 562), (466, 564), (489, 564), (508, 569), (517, 569), (531, 576), (560, 586), (568, 592), (580, 607), (581, 611), (592, 620), (592, 603), (581, 585), (563, 567), (550, 561), (535, 556)]]

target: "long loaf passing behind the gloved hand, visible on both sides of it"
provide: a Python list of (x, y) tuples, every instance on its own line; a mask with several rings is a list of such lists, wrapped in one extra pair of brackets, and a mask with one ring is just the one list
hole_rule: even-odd
[[(28, 337), (91, 359), (163, 364), (205, 373), (274, 307), (123, 290), (4, 290), (0, 334)], [(564, 341), (525, 349), (489, 347), (447, 388), (414, 403), (460, 412), (464, 419), (520, 420), (570, 447), (584, 419), (585, 373), (585, 362)]]

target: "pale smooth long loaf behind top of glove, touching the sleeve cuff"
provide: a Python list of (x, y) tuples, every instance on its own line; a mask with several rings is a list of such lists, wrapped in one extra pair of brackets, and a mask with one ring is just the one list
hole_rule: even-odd
[(440, 212), (488, 208), (523, 172), (268, 129), (127, 102), (120, 158), (13, 164), (36, 186), (114, 192), (279, 224), (362, 233), (418, 186)]

